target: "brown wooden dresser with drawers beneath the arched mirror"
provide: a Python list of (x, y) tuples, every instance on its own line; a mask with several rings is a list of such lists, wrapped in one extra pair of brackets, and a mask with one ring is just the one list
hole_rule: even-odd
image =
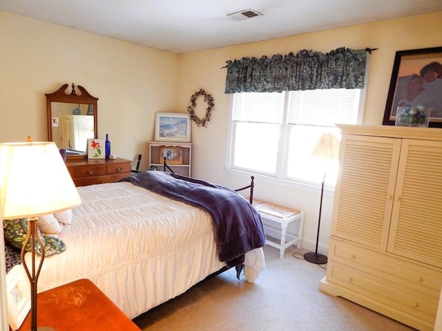
[(68, 159), (66, 161), (75, 186), (113, 183), (131, 176), (132, 161), (125, 159)]

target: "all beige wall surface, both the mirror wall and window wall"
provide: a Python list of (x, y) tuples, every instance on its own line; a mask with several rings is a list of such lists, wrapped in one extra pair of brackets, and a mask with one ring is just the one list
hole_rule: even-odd
[[(215, 109), (206, 128), (192, 124), (193, 176), (235, 188), (249, 179), (225, 169), (225, 61), (302, 49), (379, 48), (371, 56), (364, 123), (381, 124), (395, 52), (441, 46), (441, 33), (442, 12), (436, 12), (177, 56), (0, 12), (0, 141), (21, 141), (28, 134), (46, 140), (44, 94), (75, 83), (99, 98), (99, 136), (110, 134), (113, 154), (134, 161), (143, 154), (145, 170), (155, 112), (186, 112), (191, 94), (204, 88), (213, 95)], [(200, 117), (204, 106), (198, 99)], [(314, 249), (319, 188), (305, 190), (260, 178), (256, 184), (257, 197), (307, 212), (303, 246)], [(322, 252), (327, 251), (332, 203), (329, 194), (321, 223)]]

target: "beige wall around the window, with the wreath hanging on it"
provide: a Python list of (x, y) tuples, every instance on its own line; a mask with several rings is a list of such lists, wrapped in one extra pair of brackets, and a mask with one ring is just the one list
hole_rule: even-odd
[[(370, 57), (364, 123), (380, 125), (396, 51), (442, 46), (441, 36), (442, 12), (436, 12), (180, 56), (178, 108), (185, 110), (191, 94), (200, 87), (206, 89), (215, 99), (215, 110), (208, 127), (198, 128), (195, 124), (192, 127), (192, 139), (195, 143), (193, 175), (233, 188), (240, 187), (247, 181), (246, 177), (232, 176), (225, 169), (230, 100), (229, 95), (224, 94), (226, 69), (220, 69), (225, 66), (225, 61), (287, 54), (303, 49), (329, 52), (342, 46), (353, 49), (378, 48)], [(201, 99), (199, 102), (204, 106)], [(197, 114), (203, 117), (204, 109), (198, 111)], [(262, 152), (265, 153), (265, 150)], [(302, 245), (314, 250), (319, 188), (305, 190), (258, 178), (256, 197), (305, 210), (307, 217)], [(325, 197), (320, 228), (319, 249), (322, 252), (327, 252), (332, 205), (333, 198)]]

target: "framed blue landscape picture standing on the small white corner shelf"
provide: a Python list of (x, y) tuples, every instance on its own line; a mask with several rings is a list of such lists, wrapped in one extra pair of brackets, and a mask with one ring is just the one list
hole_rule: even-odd
[(155, 141), (191, 141), (189, 114), (157, 112), (155, 117)]

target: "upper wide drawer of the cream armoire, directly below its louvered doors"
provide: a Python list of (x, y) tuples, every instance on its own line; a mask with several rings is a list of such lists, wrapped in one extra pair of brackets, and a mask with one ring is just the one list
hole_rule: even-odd
[(392, 281), (439, 299), (442, 272), (427, 265), (405, 261), (389, 253), (370, 250), (354, 243), (330, 238), (329, 259), (364, 272), (376, 274), (380, 279)]

